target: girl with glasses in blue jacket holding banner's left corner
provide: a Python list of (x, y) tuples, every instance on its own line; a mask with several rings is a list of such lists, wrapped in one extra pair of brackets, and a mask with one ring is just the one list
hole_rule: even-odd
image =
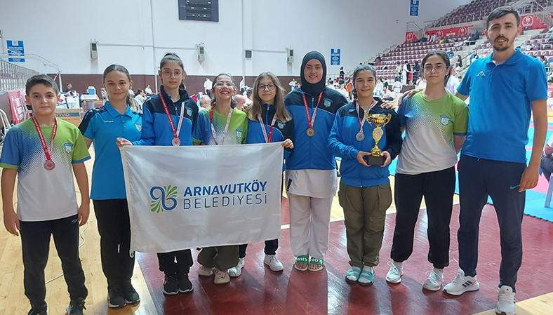
[[(198, 116), (198, 105), (183, 88), (186, 72), (182, 60), (175, 53), (166, 53), (161, 58), (158, 75), (162, 82), (161, 93), (148, 98), (142, 105), (142, 139), (133, 142), (121, 139), (120, 146), (192, 145), (192, 129)], [(158, 253), (157, 258), (159, 270), (165, 273), (165, 294), (192, 291), (188, 272), (193, 260), (189, 249)]]

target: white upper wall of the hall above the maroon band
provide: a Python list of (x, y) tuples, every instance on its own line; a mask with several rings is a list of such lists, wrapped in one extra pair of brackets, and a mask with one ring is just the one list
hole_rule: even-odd
[[(4, 41), (24, 41), (26, 53), (50, 60), (62, 73), (100, 74), (119, 63), (131, 74), (154, 74), (164, 53), (174, 51), (189, 75), (252, 76), (298, 75), (302, 56), (314, 50), (325, 55), (328, 74), (337, 74), (339, 67), (330, 66), (331, 48), (340, 48), (342, 65), (352, 69), (404, 41), (406, 22), (422, 27), (469, 0), (422, 0), (418, 18), (409, 17), (408, 0), (220, 0), (219, 22), (178, 20), (177, 0), (0, 2)], [(99, 41), (98, 60), (90, 58), (93, 39)], [(200, 42), (203, 64), (194, 50)], [(294, 49), (292, 66), (286, 64), (286, 47)], [(252, 49), (253, 58), (244, 60), (244, 49)], [(32, 56), (24, 66), (54, 72)]]

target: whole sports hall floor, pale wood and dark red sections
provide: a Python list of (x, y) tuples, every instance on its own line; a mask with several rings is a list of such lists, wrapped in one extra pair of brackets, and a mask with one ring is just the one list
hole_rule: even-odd
[[(92, 152), (93, 153), (93, 152)], [(90, 172), (93, 162), (86, 162)], [(394, 177), (391, 177), (392, 185)], [(78, 194), (79, 192), (77, 192)], [(246, 267), (242, 275), (228, 286), (215, 286), (213, 277), (197, 276), (198, 264), (190, 272), (192, 293), (165, 297), (161, 293), (163, 274), (157, 267), (156, 255), (137, 253), (133, 284), (142, 301), (134, 307), (107, 309), (107, 288), (100, 265), (100, 240), (91, 203), (91, 217), (81, 228), (84, 243), (81, 260), (89, 290), (86, 314), (495, 314), (500, 265), (499, 229), (493, 206), (484, 208), (480, 225), (478, 279), (480, 290), (460, 297), (422, 290), (422, 282), (432, 266), (427, 262), (426, 214), (421, 206), (415, 230), (413, 255), (404, 264), (405, 275), (399, 285), (389, 285), (387, 273), (389, 251), (394, 232), (395, 208), (388, 210), (380, 265), (375, 268), (373, 286), (349, 285), (344, 281), (349, 268), (345, 246), (342, 208), (336, 197), (333, 202), (331, 241), (323, 272), (298, 272), (293, 269), (293, 256), (288, 240), (288, 203), (283, 197), (282, 234), (277, 255), (284, 263), (284, 272), (271, 272), (262, 263), (263, 243), (248, 246)], [(552, 210), (553, 211), (553, 210)], [(450, 267), (444, 271), (446, 282), (455, 276), (458, 264), (457, 236), (458, 196), (455, 196), (451, 222)], [(523, 223), (524, 258), (517, 282), (519, 315), (553, 314), (553, 223), (525, 215)], [(197, 255), (193, 250), (194, 260)], [(23, 267), (20, 240), (0, 229), (0, 315), (27, 314), (29, 303), (23, 293)], [(46, 267), (46, 279), (61, 274), (53, 242)], [(65, 314), (67, 288), (62, 278), (47, 284), (48, 314)]]

